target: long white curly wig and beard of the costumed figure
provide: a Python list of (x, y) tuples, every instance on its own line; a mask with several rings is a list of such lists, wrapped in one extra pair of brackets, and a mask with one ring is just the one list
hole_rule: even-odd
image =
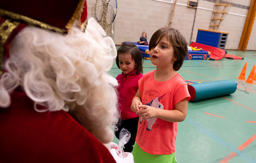
[(0, 79), (0, 107), (9, 107), (10, 93), (21, 86), (36, 111), (71, 111), (99, 141), (108, 143), (118, 119), (117, 81), (107, 73), (115, 58), (113, 40), (93, 18), (85, 32), (74, 26), (68, 35), (28, 26), (10, 44), (7, 72)]

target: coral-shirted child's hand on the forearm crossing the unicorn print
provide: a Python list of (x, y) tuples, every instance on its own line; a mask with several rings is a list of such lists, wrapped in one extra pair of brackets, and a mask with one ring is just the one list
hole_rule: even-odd
[(136, 113), (143, 119), (149, 119), (157, 117), (157, 111), (159, 111), (157, 108), (148, 105), (139, 105), (139, 110)]

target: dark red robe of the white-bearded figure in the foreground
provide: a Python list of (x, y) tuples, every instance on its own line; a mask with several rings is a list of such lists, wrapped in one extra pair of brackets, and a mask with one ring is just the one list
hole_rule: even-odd
[(66, 111), (36, 112), (25, 93), (0, 108), (0, 162), (116, 162)]

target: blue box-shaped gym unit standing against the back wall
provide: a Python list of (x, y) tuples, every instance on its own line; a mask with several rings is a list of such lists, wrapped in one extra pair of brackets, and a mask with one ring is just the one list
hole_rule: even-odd
[(211, 29), (198, 29), (196, 36), (196, 43), (218, 47), (225, 50), (228, 32), (211, 30)]

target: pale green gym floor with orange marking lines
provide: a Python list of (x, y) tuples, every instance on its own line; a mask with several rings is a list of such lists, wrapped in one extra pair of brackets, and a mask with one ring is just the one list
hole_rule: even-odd
[[(185, 60), (178, 71), (187, 81), (204, 83), (231, 79), (237, 90), (231, 95), (188, 103), (186, 120), (178, 123), (175, 156), (178, 163), (256, 162), (256, 80), (239, 80), (245, 62), (245, 79), (256, 64), (255, 51), (228, 51), (243, 60)], [(144, 60), (143, 73), (154, 70)], [(121, 74), (113, 64), (109, 74)], [(167, 135), (164, 135), (167, 136)], [(163, 137), (164, 138), (164, 137)], [(118, 144), (115, 137), (114, 142)]]

